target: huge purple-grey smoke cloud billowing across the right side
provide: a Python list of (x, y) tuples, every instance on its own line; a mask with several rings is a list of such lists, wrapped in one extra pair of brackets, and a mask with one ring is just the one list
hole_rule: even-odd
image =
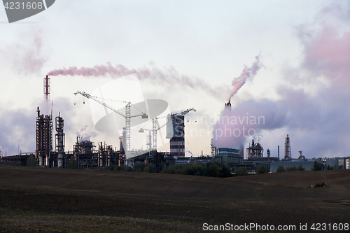
[[(302, 56), (299, 66), (283, 72), (287, 85), (276, 90), (280, 99), (251, 99), (232, 111), (223, 110), (214, 126), (214, 146), (239, 148), (242, 141), (264, 136), (262, 144), (276, 156), (276, 147), (283, 145), (289, 134), (292, 157), (297, 157), (298, 150), (306, 157), (347, 156), (350, 31), (349, 27), (330, 27), (330, 21), (345, 18), (343, 11), (339, 7), (323, 9), (315, 24), (296, 27)], [(325, 82), (320, 84), (319, 80)], [(254, 117), (260, 117), (260, 122)]]

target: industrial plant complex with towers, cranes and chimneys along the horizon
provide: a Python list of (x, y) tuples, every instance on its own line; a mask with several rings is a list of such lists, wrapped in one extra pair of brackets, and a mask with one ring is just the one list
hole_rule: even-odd
[[(302, 166), (305, 170), (311, 169), (315, 161), (322, 164), (323, 169), (332, 167), (334, 169), (350, 169), (350, 157), (335, 158), (316, 158), (307, 159), (299, 150), (299, 157), (293, 159), (291, 155), (290, 137), (287, 134), (283, 157), (279, 155), (279, 146), (277, 156), (270, 155), (269, 149), (266, 150), (264, 156), (264, 148), (258, 141), (252, 140), (246, 148), (244, 157), (243, 151), (238, 148), (216, 148), (211, 144), (211, 155), (201, 155), (199, 157), (185, 157), (185, 115), (190, 111), (196, 111), (195, 108), (188, 108), (179, 113), (170, 113), (167, 115), (165, 125), (158, 125), (158, 118), (152, 118), (152, 129), (140, 129), (149, 131), (147, 136), (147, 150), (136, 155), (130, 150), (130, 119), (133, 117), (148, 118), (146, 113), (139, 115), (131, 115), (128, 102), (125, 106), (125, 113), (121, 113), (116, 109), (108, 106), (103, 100), (92, 97), (86, 92), (76, 92), (88, 99), (92, 99), (104, 107), (125, 118), (125, 127), (123, 134), (119, 137), (119, 145), (111, 145), (99, 142), (97, 145), (90, 140), (83, 140), (77, 136), (76, 142), (73, 144), (72, 150), (65, 148), (64, 119), (59, 113), (55, 118), (50, 115), (41, 114), (40, 108), (36, 109), (36, 150), (35, 153), (20, 153), (19, 155), (2, 156), (0, 163), (16, 164), (25, 166), (30, 154), (35, 154), (37, 167), (67, 167), (69, 160), (72, 158), (78, 163), (78, 167), (82, 169), (104, 169), (111, 165), (125, 165), (133, 167), (136, 163), (151, 164), (155, 171), (160, 172), (164, 166), (172, 166), (181, 164), (185, 166), (190, 163), (207, 164), (209, 162), (218, 162), (230, 167), (232, 172), (244, 167), (246, 171), (254, 173), (258, 167), (267, 167), (270, 172), (275, 172), (278, 167), (296, 167)], [(50, 100), (50, 78), (44, 78), (44, 97), (46, 101)], [(228, 101), (225, 104), (225, 111), (231, 111), (231, 104)], [(33, 119), (34, 120), (34, 119)], [(55, 126), (55, 132), (53, 128)], [(157, 150), (157, 132), (162, 127), (167, 128), (167, 136), (169, 139), (169, 152), (160, 152)], [(55, 135), (53, 135), (55, 134)], [(55, 147), (53, 140), (55, 139)]]

